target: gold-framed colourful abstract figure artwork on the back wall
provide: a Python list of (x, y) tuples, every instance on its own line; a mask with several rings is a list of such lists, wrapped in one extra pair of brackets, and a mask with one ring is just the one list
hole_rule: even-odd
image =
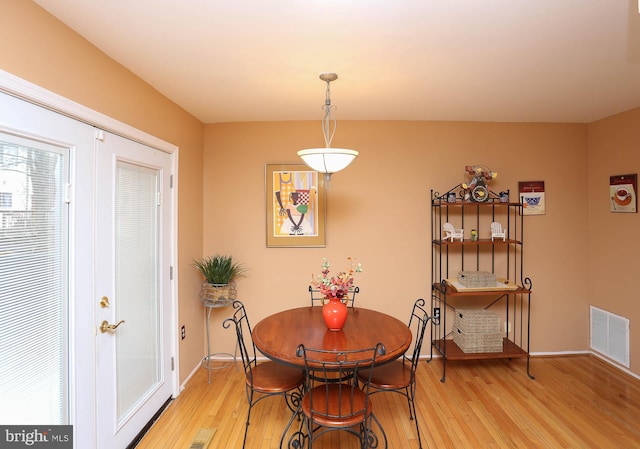
[(304, 164), (265, 166), (267, 247), (325, 246), (324, 177)]

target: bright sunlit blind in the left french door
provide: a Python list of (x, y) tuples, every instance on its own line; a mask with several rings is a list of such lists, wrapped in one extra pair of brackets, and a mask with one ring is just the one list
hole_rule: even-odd
[(68, 423), (67, 149), (0, 133), (0, 423)]

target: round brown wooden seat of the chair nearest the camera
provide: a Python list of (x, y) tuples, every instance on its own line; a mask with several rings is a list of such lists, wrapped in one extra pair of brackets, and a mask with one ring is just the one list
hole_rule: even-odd
[[(313, 422), (316, 424), (324, 427), (351, 427), (362, 424), (371, 415), (371, 400), (362, 390), (353, 390), (353, 402), (351, 398), (347, 401), (344, 396), (340, 397), (341, 394), (352, 392), (351, 386), (346, 384), (342, 384), (342, 390), (337, 384), (329, 385), (326, 394), (324, 385), (315, 387), (313, 390), (314, 410), (311, 410), (310, 395), (302, 398), (301, 408), (307, 418), (310, 419), (313, 415)], [(366, 410), (366, 415), (364, 412), (351, 415), (352, 410)]]

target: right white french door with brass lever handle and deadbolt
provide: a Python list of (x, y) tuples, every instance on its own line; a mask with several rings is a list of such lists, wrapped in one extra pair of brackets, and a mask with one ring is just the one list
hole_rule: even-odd
[(110, 133), (96, 142), (97, 447), (112, 449), (173, 391), (171, 157)]

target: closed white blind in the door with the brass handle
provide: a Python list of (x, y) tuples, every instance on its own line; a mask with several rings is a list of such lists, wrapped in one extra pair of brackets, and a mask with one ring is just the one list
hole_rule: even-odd
[(159, 172), (117, 163), (115, 278), (117, 319), (137, 332), (116, 335), (117, 415), (125, 418), (160, 380), (158, 307)]

